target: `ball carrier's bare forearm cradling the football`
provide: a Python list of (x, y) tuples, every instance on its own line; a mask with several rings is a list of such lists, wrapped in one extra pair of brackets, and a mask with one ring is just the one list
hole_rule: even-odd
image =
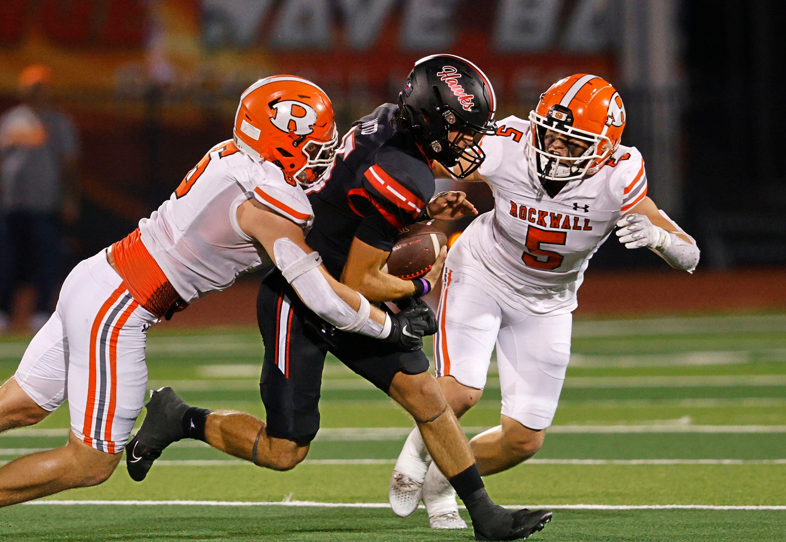
[(388, 255), (389, 252), (355, 237), (341, 273), (341, 282), (359, 291), (369, 301), (395, 301), (413, 295), (415, 287), (410, 280), (382, 271)]

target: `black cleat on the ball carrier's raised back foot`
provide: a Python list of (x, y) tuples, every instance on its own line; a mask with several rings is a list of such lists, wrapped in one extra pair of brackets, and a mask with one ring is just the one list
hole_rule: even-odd
[(126, 445), (126, 467), (135, 482), (147, 476), (153, 461), (172, 442), (185, 438), (182, 419), (189, 405), (171, 387), (150, 392), (147, 416), (137, 434)]

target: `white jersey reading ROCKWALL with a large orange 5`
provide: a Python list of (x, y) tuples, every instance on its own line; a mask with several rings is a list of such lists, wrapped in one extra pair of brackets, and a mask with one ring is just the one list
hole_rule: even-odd
[(553, 198), (527, 167), (530, 123), (510, 116), (496, 136), (483, 137), (479, 173), (494, 192), (494, 211), (468, 227), (449, 266), (483, 266), (494, 280), (523, 295), (534, 314), (570, 312), (589, 258), (619, 218), (644, 199), (641, 153), (619, 145), (592, 177), (569, 181)]

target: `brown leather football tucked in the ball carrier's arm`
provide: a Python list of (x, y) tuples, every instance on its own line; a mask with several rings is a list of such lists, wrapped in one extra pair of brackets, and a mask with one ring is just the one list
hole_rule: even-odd
[(447, 237), (432, 222), (411, 225), (399, 236), (382, 270), (404, 280), (423, 276), (446, 244)]

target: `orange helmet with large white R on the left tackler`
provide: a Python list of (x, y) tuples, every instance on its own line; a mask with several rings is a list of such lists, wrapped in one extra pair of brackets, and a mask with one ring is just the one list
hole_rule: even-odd
[(336, 159), (339, 134), (330, 98), (295, 75), (259, 79), (241, 95), (235, 114), (237, 148), (284, 170), (291, 185), (319, 181)]

